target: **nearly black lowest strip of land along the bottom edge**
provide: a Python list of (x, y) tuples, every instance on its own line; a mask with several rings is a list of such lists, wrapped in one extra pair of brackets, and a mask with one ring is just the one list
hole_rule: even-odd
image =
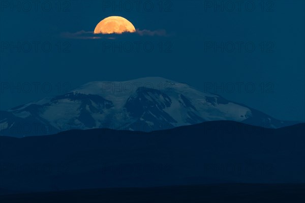
[(0, 195), (0, 202), (305, 202), (305, 184), (220, 184), (106, 188)]

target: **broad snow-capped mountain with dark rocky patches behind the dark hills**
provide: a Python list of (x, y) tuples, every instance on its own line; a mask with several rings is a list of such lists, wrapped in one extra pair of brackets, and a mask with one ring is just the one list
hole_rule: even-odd
[(1, 111), (0, 133), (28, 136), (92, 128), (153, 131), (217, 120), (269, 128), (292, 124), (186, 83), (145, 77), (89, 82), (64, 95)]

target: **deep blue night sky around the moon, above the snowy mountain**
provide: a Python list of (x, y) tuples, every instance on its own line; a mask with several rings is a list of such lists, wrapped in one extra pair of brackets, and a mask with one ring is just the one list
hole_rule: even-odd
[[(162, 9), (160, 1), (144, 1), (146, 7), (143, 3), (137, 7), (136, 1), (116, 1), (119, 7), (115, 8), (106, 7), (111, 1), (61, 2), (58, 9), (58, 1), (39, 1), (38, 6), (2, 1), (1, 110), (93, 80), (161, 76), (215, 92), (277, 119), (305, 120), (304, 1), (264, 1), (263, 8), (261, 1), (245, 1), (240, 9), (235, 1), (164, 1)], [(232, 6), (235, 9), (230, 11)], [(72, 38), (81, 30), (93, 31), (111, 15), (127, 18), (140, 30), (165, 30), (167, 35)], [(67, 32), (70, 38), (63, 37)], [(25, 52), (27, 43), (32, 44), (29, 52)], [(37, 50), (35, 43), (39, 43)], [(51, 51), (44, 51), (43, 43)], [(111, 53), (105, 43), (123, 48), (131, 43), (134, 51)], [(135, 43), (140, 43), (138, 52)], [(152, 44), (154, 50), (145, 51), (144, 43)], [(210, 48), (211, 43), (223, 43), (224, 51)], [(230, 52), (232, 43), (235, 49)], [(7, 48), (12, 44), (20, 50)], [(40, 82), (37, 90), (34, 82)], [(32, 90), (27, 93), (28, 83)], [(42, 90), (42, 83), (51, 85), (52, 91), (47, 86)], [(60, 91), (58, 84), (63, 86)], [(223, 88), (213, 90), (210, 85)]]

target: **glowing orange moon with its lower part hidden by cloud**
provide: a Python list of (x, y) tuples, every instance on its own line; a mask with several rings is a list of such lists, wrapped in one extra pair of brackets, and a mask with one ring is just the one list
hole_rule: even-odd
[(134, 33), (136, 29), (130, 21), (120, 16), (107, 17), (94, 29), (94, 34), (122, 34), (125, 32)]

